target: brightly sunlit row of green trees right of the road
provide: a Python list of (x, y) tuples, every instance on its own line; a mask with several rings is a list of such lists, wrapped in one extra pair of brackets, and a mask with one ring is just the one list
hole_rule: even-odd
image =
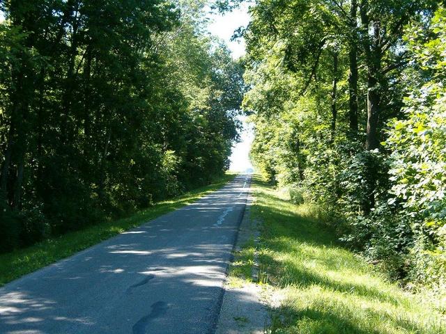
[(445, 7), (256, 0), (250, 13), (256, 166), (393, 278), (445, 296)]

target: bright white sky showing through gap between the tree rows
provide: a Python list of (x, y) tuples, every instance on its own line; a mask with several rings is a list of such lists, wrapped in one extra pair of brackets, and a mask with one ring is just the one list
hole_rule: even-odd
[[(243, 56), (245, 54), (245, 41), (231, 41), (231, 38), (238, 27), (247, 26), (249, 23), (247, 5), (241, 6), (224, 15), (218, 13), (209, 14), (209, 18), (211, 19), (211, 23), (208, 26), (209, 32), (226, 42), (234, 59)], [(233, 145), (232, 154), (229, 158), (231, 159), (229, 170), (245, 172), (247, 169), (252, 168), (251, 161), (249, 161), (249, 149), (251, 148), (254, 134), (252, 132), (252, 126), (246, 122), (246, 117), (240, 116), (239, 119), (243, 123), (243, 130), (240, 132), (241, 141)]]

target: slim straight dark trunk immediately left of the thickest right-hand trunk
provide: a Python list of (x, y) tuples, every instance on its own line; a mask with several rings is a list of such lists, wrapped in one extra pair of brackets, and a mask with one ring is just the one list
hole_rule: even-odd
[(350, 72), (348, 74), (348, 120), (350, 132), (353, 137), (357, 136), (357, 0), (351, 0), (350, 17), (352, 35), (348, 50), (348, 61)]

